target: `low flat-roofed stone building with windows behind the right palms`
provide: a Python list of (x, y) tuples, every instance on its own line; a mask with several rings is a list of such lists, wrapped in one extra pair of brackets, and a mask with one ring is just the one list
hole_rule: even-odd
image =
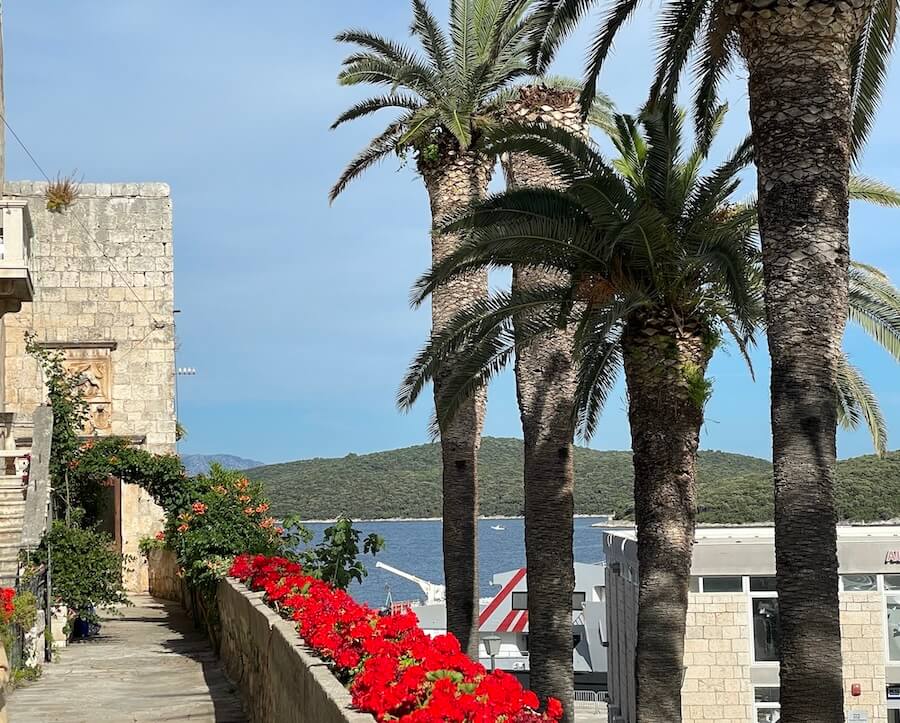
[[(633, 532), (604, 537), (610, 723), (634, 723), (638, 562)], [(838, 528), (847, 719), (900, 723), (900, 527)], [(701, 528), (685, 635), (684, 723), (779, 720), (772, 528)]]

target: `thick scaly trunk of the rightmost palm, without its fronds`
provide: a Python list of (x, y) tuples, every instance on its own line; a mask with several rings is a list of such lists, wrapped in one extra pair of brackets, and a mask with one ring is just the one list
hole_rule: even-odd
[(834, 504), (847, 318), (850, 4), (737, 7), (749, 69), (772, 358), (781, 720), (844, 720)]

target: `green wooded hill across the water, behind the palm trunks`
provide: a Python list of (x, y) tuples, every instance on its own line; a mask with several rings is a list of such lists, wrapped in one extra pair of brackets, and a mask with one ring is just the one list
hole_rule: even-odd
[[(519, 439), (485, 437), (482, 440), (479, 464), (482, 514), (521, 514), (522, 450)], [(900, 455), (897, 459), (900, 466)], [(701, 520), (771, 519), (771, 469), (769, 462), (756, 457), (701, 452)], [(633, 484), (630, 452), (600, 452), (578, 447), (575, 472), (576, 512), (630, 514)], [(439, 517), (441, 514), (440, 447), (436, 444), (269, 465), (248, 470), (247, 476), (266, 485), (273, 510), (279, 515), (330, 519), (344, 513), (360, 519)], [(896, 477), (900, 482), (900, 469)], [(900, 496), (895, 500), (900, 506)]]

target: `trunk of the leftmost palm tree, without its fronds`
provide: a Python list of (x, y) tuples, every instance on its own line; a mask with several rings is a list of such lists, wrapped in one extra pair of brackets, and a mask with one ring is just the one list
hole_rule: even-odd
[[(419, 158), (431, 202), (432, 262), (437, 263), (459, 246), (457, 235), (439, 233), (440, 222), (487, 194), (492, 160), (445, 144), (434, 161)], [(487, 272), (455, 279), (432, 295), (433, 331), (438, 332), (459, 311), (487, 296)], [(434, 380), (437, 401), (447, 372)], [(485, 393), (465, 402), (453, 421), (441, 426), (443, 467), (444, 583), (447, 586), (447, 631), (462, 649), (478, 660), (478, 448), (484, 422)]]

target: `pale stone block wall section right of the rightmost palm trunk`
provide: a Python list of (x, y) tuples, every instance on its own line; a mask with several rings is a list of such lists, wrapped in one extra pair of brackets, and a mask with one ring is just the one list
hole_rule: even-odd
[[(880, 592), (841, 593), (841, 652), (844, 658), (844, 706), (867, 714), (870, 723), (887, 721), (885, 701), (885, 607)], [(859, 697), (850, 686), (859, 683)]]

